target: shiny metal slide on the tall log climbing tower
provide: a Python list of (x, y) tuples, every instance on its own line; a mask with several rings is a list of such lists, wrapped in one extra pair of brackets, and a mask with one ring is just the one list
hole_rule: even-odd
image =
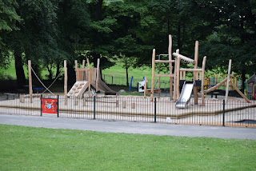
[(190, 102), (191, 93), (194, 87), (194, 82), (184, 82), (182, 86), (182, 93), (176, 101), (175, 106), (177, 108), (186, 108), (186, 105)]

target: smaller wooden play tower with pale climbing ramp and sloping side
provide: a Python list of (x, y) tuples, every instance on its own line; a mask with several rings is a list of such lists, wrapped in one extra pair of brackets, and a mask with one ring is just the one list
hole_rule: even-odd
[[(85, 68), (85, 63), (87, 62), (87, 68)], [(103, 91), (106, 94), (116, 95), (110, 87), (108, 87), (105, 82), (102, 82), (99, 72), (99, 62), (97, 61), (97, 68), (90, 68), (89, 59), (82, 61), (82, 68), (78, 68), (78, 61), (74, 62), (75, 64), (75, 73), (76, 73), (76, 82), (73, 87), (70, 89), (69, 93), (67, 93), (67, 97), (82, 97), (82, 94), (88, 89), (88, 95), (91, 96), (91, 86), (94, 87), (95, 93), (98, 91)]]

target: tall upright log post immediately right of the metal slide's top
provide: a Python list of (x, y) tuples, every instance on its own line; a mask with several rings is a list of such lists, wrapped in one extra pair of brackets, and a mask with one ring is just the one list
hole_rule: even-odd
[[(195, 62), (194, 69), (198, 68), (198, 46), (199, 46), (199, 42), (196, 41), (194, 46), (194, 62)], [(193, 74), (194, 74), (194, 81), (198, 80), (198, 72), (193, 72)], [(193, 90), (194, 90), (194, 105), (198, 105), (198, 87), (194, 86)]]

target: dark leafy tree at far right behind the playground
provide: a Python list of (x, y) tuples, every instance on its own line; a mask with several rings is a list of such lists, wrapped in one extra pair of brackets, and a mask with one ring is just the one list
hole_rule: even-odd
[(220, 18), (216, 32), (202, 48), (211, 57), (208, 66), (227, 66), (232, 59), (232, 70), (242, 74), (243, 90), (246, 74), (256, 68), (255, 1), (222, 0), (213, 2), (212, 8), (218, 9)]

